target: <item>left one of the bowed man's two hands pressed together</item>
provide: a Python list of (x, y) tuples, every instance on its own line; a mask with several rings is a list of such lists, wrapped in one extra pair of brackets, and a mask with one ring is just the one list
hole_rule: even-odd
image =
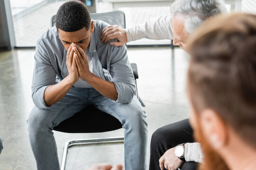
[(66, 65), (67, 65), (67, 69), (68, 69), (68, 78), (70, 78), (70, 80), (75, 83), (77, 82), (77, 80), (79, 79), (79, 75), (78, 75), (78, 70), (76, 67), (76, 63), (75, 63), (75, 59), (74, 59), (74, 43), (72, 43), (67, 51), (67, 56), (66, 56)]

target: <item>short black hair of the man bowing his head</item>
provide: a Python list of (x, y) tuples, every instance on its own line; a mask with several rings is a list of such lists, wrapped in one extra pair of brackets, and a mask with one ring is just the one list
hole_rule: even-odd
[(70, 0), (58, 9), (55, 24), (66, 32), (78, 31), (83, 27), (88, 31), (91, 28), (90, 12), (82, 2)]

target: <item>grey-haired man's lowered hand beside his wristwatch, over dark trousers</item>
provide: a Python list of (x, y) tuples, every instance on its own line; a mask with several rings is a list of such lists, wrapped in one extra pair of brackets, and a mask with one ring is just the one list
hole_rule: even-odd
[(174, 153), (175, 147), (167, 150), (165, 154), (159, 159), (159, 166), (161, 170), (177, 170), (183, 163)]

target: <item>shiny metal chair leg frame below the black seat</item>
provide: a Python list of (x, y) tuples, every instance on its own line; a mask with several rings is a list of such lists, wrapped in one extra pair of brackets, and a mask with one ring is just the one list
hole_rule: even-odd
[(108, 137), (108, 138), (94, 138), (94, 139), (75, 139), (67, 141), (64, 145), (64, 151), (61, 161), (61, 170), (65, 170), (68, 147), (79, 144), (103, 144), (103, 143), (118, 143), (124, 142), (124, 137)]

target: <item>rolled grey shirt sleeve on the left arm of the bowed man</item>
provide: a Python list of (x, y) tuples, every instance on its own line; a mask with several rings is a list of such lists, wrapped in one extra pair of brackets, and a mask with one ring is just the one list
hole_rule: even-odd
[(49, 85), (54, 85), (56, 72), (51, 64), (43, 40), (37, 41), (35, 51), (35, 68), (32, 79), (32, 99), (39, 109), (50, 109), (46, 106), (44, 93)]

